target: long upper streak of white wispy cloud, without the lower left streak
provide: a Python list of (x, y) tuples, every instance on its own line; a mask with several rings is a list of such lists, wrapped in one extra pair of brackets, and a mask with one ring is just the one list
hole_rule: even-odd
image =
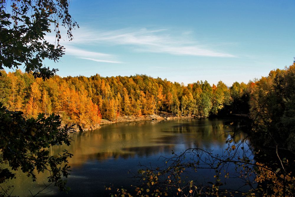
[(191, 37), (191, 32), (182, 32), (180, 35), (171, 35), (169, 29), (118, 29), (114, 31), (93, 31), (81, 29), (81, 33), (73, 40), (76, 44), (90, 45), (127, 45), (136, 51), (168, 53), (173, 55), (192, 55), (209, 57), (235, 57), (235, 55), (216, 51), (198, 42)]

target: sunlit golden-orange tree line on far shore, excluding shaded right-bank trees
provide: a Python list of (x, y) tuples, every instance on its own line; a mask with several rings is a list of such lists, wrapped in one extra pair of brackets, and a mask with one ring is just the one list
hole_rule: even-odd
[(237, 111), (248, 88), (238, 82), (228, 88), (222, 81), (212, 86), (207, 81), (185, 86), (147, 75), (64, 78), (55, 75), (43, 81), (21, 70), (1, 73), (0, 102), (8, 110), (24, 111), (28, 118), (54, 112), (66, 123), (91, 128), (96, 127), (100, 118), (116, 121), (124, 115), (157, 115), (166, 111), (173, 116), (208, 117), (231, 104), (234, 108), (230, 110)]

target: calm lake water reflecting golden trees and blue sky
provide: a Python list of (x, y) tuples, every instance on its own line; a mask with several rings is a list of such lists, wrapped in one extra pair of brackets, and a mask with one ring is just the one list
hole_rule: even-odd
[[(233, 119), (177, 119), (163, 121), (141, 121), (102, 125), (101, 129), (71, 134), (71, 146), (52, 147), (52, 154), (67, 149), (74, 156), (69, 159), (71, 175), (67, 193), (58, 188), (48, 187), (43, 196), (107, 196), (104, 186), (130, 188), (136, 185), (132, 173), (143, 165), (163, 166), (163, 157), (171, 157), (192, 147), (213, 150), (222, 154), (228, 147), (225, 140), (229, 137)], [(235, 135), (239, 142), (245, 137), (240, 132)], [(234, 169), (234, 166), (232, 166)], [(232, 169), (232, 170), (233, 170)], [(128, 173), (130, 171), (131, 173)], [(214, 172), (200, 170), (191, 173), (200, 183), (214, 181)], [(44, 188), (46, 174), (37, 175), (37, 183), (24, 174), (9, 182), (15, 189), (12, 195), (31, 196)], [(43, 183), (44, 181), (44, 183)], [(226, 187), (235, 188), (237, 180), (228, 179)]]

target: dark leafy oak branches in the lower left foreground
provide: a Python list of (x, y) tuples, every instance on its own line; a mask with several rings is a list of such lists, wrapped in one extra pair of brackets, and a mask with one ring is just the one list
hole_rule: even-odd
[[(50, 146), (65, 143), (70, 145), (69, 132), (72, 126), (60, 128), (60, 117), (44, 114), (34, 119), (25, 119), (21, 111), (8, 111), (0, 104), (0, 183), (15, 178), (14, 170), (21, 170), (36, 181), (37, 173), (49, 171), (48, 182), (65, 190), (65, 180), (69, 175), (67, 150), (58, 155), (50, 155)], [(5, 167), (6, 166), (6, 167)], [(36, 171), (35, 171), (36, 170)]]

